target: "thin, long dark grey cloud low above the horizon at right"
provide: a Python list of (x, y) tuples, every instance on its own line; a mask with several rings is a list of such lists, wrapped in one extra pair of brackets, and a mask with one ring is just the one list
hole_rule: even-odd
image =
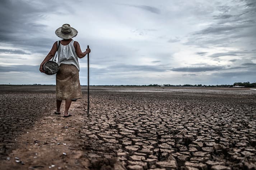
[(207, 72), (207, 71), (217, 71), (223, 69), (222, 66), (209, 65), (209, 66), (199, 66), (199, 67), (178, 67), (172, 68), (174, 72)]

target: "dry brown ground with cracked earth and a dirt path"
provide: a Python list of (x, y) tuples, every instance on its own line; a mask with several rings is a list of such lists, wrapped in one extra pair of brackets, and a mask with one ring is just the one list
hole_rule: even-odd
[(0, 86), (0, 169), (256, 169), (256, 91), (91, 87), (89, 118), (83, 94), (64, 118), (55, 86)]

